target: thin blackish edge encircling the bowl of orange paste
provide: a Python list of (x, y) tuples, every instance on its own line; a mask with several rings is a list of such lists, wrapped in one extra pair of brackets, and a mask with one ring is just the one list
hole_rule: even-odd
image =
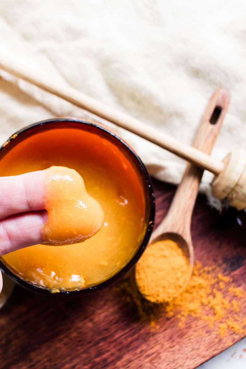
[[(143, 162), (139, 158), (139, 156), (136, 154), (136, 152), (131, 148), (131, 146), (129, 146), (129, 144), (124, 141), (124, 139), (119, 137), (114, 132), (110, 131), (108, 128), (105, 128), (102, 125), (91, 122), (91, 121), (80, 120), (80, 119), (76, 119), (76, 118), (52, 118), (52, 119), (42, 120), (42, 121), (39, 121), (37, 123), (30, 124), (30, 125), (28, 125), (24, 128), (21, 128), (20, 130), (15, 132), (13, 135), (11, 135), (6, 140), (6, 142), (0, 147), (0, 153), (4, 149), (7, 149), (9, 147), (10, 142), (12, 142), (15, 138), (20, 137), (21, 134), (24, 134), (24, 133), (27, 133), (28, 131), (31, 131), (33, 128), (45, 126), (45, 128), (49, 129), (49, 125), (52, 125), (52, 127), (50, 127), (50, 129), (54, 129), (55, 128), (54, 124), (59, 125), (59, 127), (60, 127), (60, 124), (64, 124), (64, 127), (67, 128), (66, 123), (69, 123), (71, 125), (71, 128), (72, 128), (72, 126), (73, 127), (76, 126), (77, 128), (79, 128), (79, 125), (81, 125), (81, 126), (92, 127), (95, 130), (98, 130), (98, 132), (101, 132), (101, 133), (104, 134), (104, 137), (109, 137), (109, 138), (115, 140), (116, 142), (118, 142), (127, 152), (129, 152), (130, 156), (135, 160), (135, 163), (137, 164), (136, 168), (139, 170), (140, 174), (142, 173), (143, 183), (146, 184), (145, 193), (147, 194), (147, 196), (149, 198), (149, 215), (148, 215), (148, 219), (146, 220), (147, 228), (146, 228), (146, 231), (145, 231), (145, 236), (143, 238), (143, 241), (139, 245), (139, 248), (137, 249), (137, 251), (135, 252), (133, 257), (115, 275), (111, 276), (109, 279), (104, 280), (101, 283), (96, 284), (95, 286), (86, 287), (86, 288), (78, 289), (78, 290), (70, 290), (70, 291), (60, 290), (59, 293), (52, 293), (50, 289), (47, 289), (47, 288), (42, 287), (42, 286), (36, 286), (35, 284), (32, 284), (30, 282), (27, 282), (24, 279), (21, 279), (21, 277), (15, 275), (13, 272), (11, 272), (11, 270), (8, 269), (7, 266), (4, 265), (3, 262), (1, 262), (1, 260), (0, 260), (0, 269), (7, 276), (9, 276), (11, 279), (13, 279), (14, 282), (16, 282), (20, 286), (22, 286), (25, 289), (28, 289), (32, 292), (36, 292), (36, 293), (39, 293), (39, 294), (45, 294), (45, 295), (49, 295), (49, 296), (51, 296), (51, 295), (53, 295), (53, 296), (54, 295), (56, 295), (56, 296), (87, 296), (89, 294), (95, 293), (95, 292), (100, 291), (100, 290), (102, 290), (106, 287), (111, 286), (112, 284), (117, 282), (119, 279), (121, 279), (126, 273), (128, 273), (135, 266), (136, 262), (138, 262), (139, 258), (141, 257), (141, 255), (143, 254), (146, 246), (149, 243), (150, 235), (152, 233), (153, 225), (155, 223), (155, 195), (153, 193), (152, 181), (151, 181), (150, 175), (148, 173), (148, 170), (146, 169), (145, 165), (143, 164)], [(146, 195), (145, 195), (145, 197), (146, 197)]]

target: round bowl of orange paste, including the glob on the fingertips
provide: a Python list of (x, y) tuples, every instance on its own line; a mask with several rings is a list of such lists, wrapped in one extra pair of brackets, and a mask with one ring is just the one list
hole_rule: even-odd
[[(40, 293), (91, 293), (122, 276), (148, 244), (154, 217), (148, 173), (111, 132), (73, 120), (33, 125), (0, 152), (0, 176), (47, 168), (51, 202), (46, 204), (44, 244), (4, 255), (0, 266), (18, 283)], [(76, 186), (59, 180), (49, 187), (60, 170), (74, 177)], [(67, 196), (71, 201), (65, 200)], [(81, 237), (82, 227), (87, 239)], [(66, 245), (71, 241), (75, 243)]]

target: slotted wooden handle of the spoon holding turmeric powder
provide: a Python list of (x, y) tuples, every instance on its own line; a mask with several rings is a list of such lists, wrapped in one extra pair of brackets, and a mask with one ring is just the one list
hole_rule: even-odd
[[(228, 103), (229, 94), (224, 89), (219, 89), (212, 95), (193, 141), (195, 148), (206, 154), (211, 153)], [(162, 232), (172, 230), (186, 239), (190, 238), (191, 215), (202, 174), (202, 169), (197, 168), (193, 164), (187, 164), (169, 212), (162, 222)], [(162, 227), (162, 225), (159, 227)]]

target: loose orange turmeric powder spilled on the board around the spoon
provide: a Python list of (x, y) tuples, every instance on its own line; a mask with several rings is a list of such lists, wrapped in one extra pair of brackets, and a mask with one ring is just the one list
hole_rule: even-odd
[(196, 262), (187, 288), (164, 304), (153, 304), (143, 298), (138, 291), (134, 272), (114, 289), (121, 293), (128, 305), (136, 308), (140, 321), (149, 324), (150, 331), (157, 330), (170, 318), (175, 319), (180, 329), (187, 328), (190, 317), (193, 317), (193, 321), (206, 323), (206, 332), (202, 331), (202, 334), (215, 331), (218, 338), (228, 336), (228, 342), (232, 342), (233, 334), (246, 335), (246, 318), (241, 309), (246, 292), (235, 286), (229, 276), (222, 275), (218, 265), (203, 268)]

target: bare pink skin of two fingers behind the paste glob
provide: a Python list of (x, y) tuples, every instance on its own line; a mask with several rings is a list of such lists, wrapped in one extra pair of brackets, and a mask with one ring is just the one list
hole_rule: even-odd
[[(47, 219), (45, 171), (0, 177), (0, 256), (38, 244)], [(3, 279), (0, 272), (0, 292)]]

